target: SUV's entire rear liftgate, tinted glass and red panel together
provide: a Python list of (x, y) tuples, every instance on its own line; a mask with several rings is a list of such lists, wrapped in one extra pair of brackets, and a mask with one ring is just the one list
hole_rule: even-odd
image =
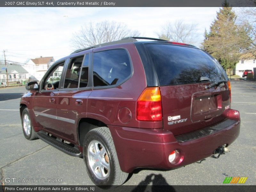
[(163, 107), (163, 127), (174, 135), (220, 122), (230, 107), (228, 85), (210, 89), (216, 80), (228, 80), (220, 64), (204, 51), (168, 43), (144, 44), (155, 66)]

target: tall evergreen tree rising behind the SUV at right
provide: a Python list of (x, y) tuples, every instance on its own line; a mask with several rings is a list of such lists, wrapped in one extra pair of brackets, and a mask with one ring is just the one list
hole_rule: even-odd
[(242, 26), (236, 25), (236, 14), (232, 7), (224, 4), (217, 12), (210, 32), (204, 33), (203, 49), (215, 57), (224, 69), (234, 68), (241, 52), (248, 47), (248, 35)]

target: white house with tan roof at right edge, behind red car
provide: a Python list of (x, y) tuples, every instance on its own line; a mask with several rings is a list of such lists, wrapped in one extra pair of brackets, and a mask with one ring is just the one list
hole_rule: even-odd
[(242, 77), (244, 70), (256, 68), (256, 57), (252, 54), (244, 54), (240, 57), (239, 62), (236, 64), (236, 75)]

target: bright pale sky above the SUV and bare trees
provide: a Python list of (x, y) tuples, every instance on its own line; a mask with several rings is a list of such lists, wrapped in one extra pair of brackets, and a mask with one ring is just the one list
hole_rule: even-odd
[[(73, 51), (72, 35), (87, 22), (123, 22), (140, 36), (156, 37), (166, 21), (198, 24), (198, 43), (209, 30), (219, 7), (52, 7), (0, 8), (0, 60), (25, 62), (29, 58), (60, 59)], [(65, 16), (65, 17), (64, 17)]]

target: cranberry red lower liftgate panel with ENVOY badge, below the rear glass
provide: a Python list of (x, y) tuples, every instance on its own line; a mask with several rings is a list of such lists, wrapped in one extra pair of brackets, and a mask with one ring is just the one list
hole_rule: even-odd
[[(230, 103), (227, 84), (205, 90), (205, 83), (161, 86), (164, 129), (180, 135), (218, 123)], [(225, 91), (224, 91), (225, 90)]]

